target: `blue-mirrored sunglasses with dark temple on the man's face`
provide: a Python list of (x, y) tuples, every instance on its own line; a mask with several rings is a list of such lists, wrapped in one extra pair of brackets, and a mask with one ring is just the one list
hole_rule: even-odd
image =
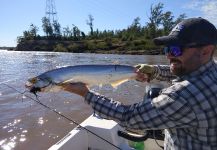
[(207, 44), (198, 44), (198, 45), (189, 45), (189, 46), (166, 46), (164, 47), (163, 51), (165, 55), (170, 54), (174, 57), (179, 57), (182, 55), (184, 48), (199, 48), (205, 45)]

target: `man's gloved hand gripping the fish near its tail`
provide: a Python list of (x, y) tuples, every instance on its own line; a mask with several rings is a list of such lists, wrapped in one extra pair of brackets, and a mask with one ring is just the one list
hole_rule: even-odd
[(135, 67), (138, 69), (136, 80), (141, 82), (149, 82), (153, 78), (155, 71), (154, 66), (148, 64), (138, 64)]

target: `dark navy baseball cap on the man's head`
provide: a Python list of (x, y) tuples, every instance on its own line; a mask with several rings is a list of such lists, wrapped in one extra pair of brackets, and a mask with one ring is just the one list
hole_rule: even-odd
[(157, 37), (156, 45), (194, 46), (217, 44), (217, 30), (215, 26), (203, 19), (189, 18), (178, 23), (168, 36)]

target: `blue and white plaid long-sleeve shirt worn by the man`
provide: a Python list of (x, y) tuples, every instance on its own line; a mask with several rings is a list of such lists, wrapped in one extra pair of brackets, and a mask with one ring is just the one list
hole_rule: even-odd
[[(174, 78), (168, 66), (155, 67), (156, 79)], [(123, 127), (165, 129), (165, 149), (217, 149), (217, 64), (213, 60), (172, 80), (172, 86), (152, 100), (123, 105), (89, 92), (85, 101), (101, 117)]]

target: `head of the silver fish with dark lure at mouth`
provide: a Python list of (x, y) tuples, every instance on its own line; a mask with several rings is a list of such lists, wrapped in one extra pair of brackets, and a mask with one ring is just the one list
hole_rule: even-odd
[(40, 91), (46, 92), (50, 89), (49, 87), (51, 86), (51, 83), (51, 80), (48, 78), (34, 77), (28, 79), (25, 87), (28, 88), (31, 93), (37, 93)]

